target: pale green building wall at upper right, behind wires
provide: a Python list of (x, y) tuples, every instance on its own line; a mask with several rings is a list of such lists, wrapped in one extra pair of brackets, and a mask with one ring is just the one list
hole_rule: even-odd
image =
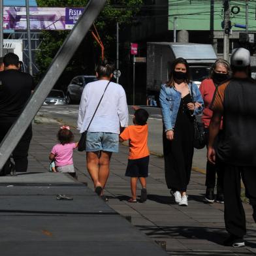
[[(229, 1), (230, 8), (239, 7), (238, 14), (231, 14), (232, 24), (246, 24), (246, 2)], [(168, 0), (168, 29), (173, 30), (173, 19), (176, 16), (177, 30), (210, 30), (210, 0)], [(256, 2), (249, 1), (249, 30), (256, 30)], [(223, 0), (214, 1), (214, 30), (221, 31), (223, 21)], [(232, 27), (233, 31), (245, 31)]]

